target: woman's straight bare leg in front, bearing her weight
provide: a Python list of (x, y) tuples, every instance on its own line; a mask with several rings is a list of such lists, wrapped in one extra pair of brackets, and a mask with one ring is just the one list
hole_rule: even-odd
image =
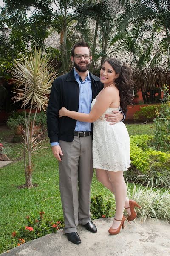
[[(117, 220), (122, 220), (123, 217), (123, 211), (125, 207), (126, 202), (126, 195), (127, 195), (127, 186), (123, 177), (123, 171), (118, 172), (109, 172), (108, 177), (111, 180), (111, 183), (114, 187), (114, 195), (115, 195), (115, 201), (116, 201), (116, 213), (115, 218)], [(118, 228), (120, 225), (120, 221), (113, 220), (112, 228)]]

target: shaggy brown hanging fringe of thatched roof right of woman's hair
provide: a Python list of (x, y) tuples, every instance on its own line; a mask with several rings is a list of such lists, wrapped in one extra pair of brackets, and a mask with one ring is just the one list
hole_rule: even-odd
[(139, 90), (154, 90), (164, 84), (170, 86), (170, 69), (161, 67), (148, 67), (133, 69), (135, 87)]

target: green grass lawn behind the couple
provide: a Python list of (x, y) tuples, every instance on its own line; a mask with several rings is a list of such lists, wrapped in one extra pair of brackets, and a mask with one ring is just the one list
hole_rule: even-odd
[[(154, 124), (127, 124), (130, 135), (153, 134)], [(0, 134), (2, 141), (11, 136), (13, 131), (7, 130)], [(33, 183), (38, 186), (32, 189), (18, 189), (25, 184), (23, 157), (19, 154), (20, 144), (9, 143), (13, 152), (9, 157), (14, 163), (0, 168), (0, 253), (6, 251), (12, 243), (11, 233), (17, 230), (27, 215), (38, 215), (45, 211), (47, 218), (57, 221), (62, 217), (62, 206), (59, 193), (58, 163), (51, 148), (41, 151), (33, 159)], [(49, 145), (47, 143), (47, 145)], [(20, 161), (17, 161), (21, 159)], [(94, 175), (91, 196), (101, 194), (104, 199), (113, 201), (108, 189), (97, 182)]]

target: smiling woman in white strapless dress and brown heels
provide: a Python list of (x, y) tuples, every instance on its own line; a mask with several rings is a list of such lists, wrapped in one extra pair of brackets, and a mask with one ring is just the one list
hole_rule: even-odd
[(118, 59), (108, 58), (100, 70), (100, 79), (104, 88), (92, 101), (89, 114), (69, 111), (63, 107), (59, 117), (68, 116), (82, 122), (94, 122), (93, 167), (97, 179), (115, 195), (116, 213), (109, 233), (116, 235), (121, 227), (124, 228), (124, 207), (129, 215), (127, 219), (133, 220), (136, 218), (134, 207), (140, 206), (126, 198), (127, 186), (123, 172), (130, 167), (129, 134), (123, 122), (115, 125), (106, 122), (105, 114), (120, 108), (124, 113), (127, 111), (127, 105), (133, 99), (132, 71), (130, 66), (121, 64)]

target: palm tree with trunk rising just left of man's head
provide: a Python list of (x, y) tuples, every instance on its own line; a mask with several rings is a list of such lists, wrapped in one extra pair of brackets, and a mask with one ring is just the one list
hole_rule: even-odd
[[(67, 31), (68, 27), (77, 20), (77, 8), (85, 0), (4, 0), (5, 7), (13, 14), (17, 9), (27, 12), (30, 7), (34, 7), (33, 15), (36, 17), (48, 17), (48, 27), (52, 27), (60, 34), (60, 50), (62, 67), (64, 73), (69, 71), (68, 50), (67, 50)], [(55, 11), (52, 8), (55, 6)]]

